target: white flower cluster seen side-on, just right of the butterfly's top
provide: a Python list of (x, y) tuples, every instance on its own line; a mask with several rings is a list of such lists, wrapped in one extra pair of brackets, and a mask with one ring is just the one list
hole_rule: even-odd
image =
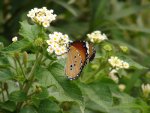
[(100, 43), (103, 40), (107, 40), (107, 36), (103, 33), (101, 33), (101, 31), (94, 31), (91, 34), (87, 34), (88, 38), (90, 39), (91, 42), (93, 43)]

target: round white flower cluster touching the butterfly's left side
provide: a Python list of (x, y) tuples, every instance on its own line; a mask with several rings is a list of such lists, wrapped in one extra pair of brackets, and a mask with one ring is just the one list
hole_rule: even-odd
[(70, 42), (67, 34), (60, 32), (54, 32), (49, 34), (49, 40), (46, 41), (48, 44), (47, 51), (49, 53), (55, 53), (57, 56), (62, 56), (67, 52), (67, 46)]

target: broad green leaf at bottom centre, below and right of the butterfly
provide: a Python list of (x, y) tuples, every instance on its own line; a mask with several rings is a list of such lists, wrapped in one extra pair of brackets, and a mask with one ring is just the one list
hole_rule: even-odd
[(82, 84), (81, 87), (85, 94), (88, 95), (89, 99), (99, 105), (101, 111), (109, 112), (108, 107), (112, 106), (113, 98), (107, 84), (98, 81), (88, 85)]

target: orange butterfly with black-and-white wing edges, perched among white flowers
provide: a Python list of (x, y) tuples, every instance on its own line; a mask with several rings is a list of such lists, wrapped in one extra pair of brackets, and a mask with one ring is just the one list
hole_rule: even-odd
[(95, 57), (95, 48), (86, 41), (71, 42), (68, 47), (65, 74), (70, 80), (80, 76), (84, 66)]

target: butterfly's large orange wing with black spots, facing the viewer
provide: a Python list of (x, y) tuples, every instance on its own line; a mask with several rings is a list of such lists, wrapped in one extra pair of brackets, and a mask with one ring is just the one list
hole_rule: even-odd
[(65, 73), (69, 79), (77, 78), (86, 63), (86, 47), (84, 42), (73, 42), (68, 51)]

